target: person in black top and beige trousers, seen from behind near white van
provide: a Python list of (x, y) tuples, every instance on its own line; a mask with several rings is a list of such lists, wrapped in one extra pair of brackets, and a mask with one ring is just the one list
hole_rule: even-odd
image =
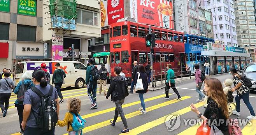
[(105, 68), (105, 64), (102, 63), (101, 64), (101, 68), (99, 71), (100, 74), (100, 94), (102, 92), (102, 86), (103, 86), (103, 91), (104, 91), (104, 95), (107, 95), (107, 91), (106, 91), (106, 87), (107, 87), (107, 68)]

